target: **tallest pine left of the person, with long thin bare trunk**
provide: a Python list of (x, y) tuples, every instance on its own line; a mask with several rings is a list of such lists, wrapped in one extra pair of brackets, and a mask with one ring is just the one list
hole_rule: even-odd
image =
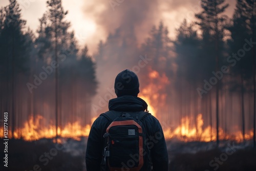
[[(61, 0), (47, 1), (47, 12), (40, 18), (40, 27), (38, 29), (39, 37), (36, 40), (38, 45), (38, 55), (44, 60), (55, 60), (59, 64), (59, 56), (62, 56), (61, 61), (66, 60), (67, 54), (70, 53), (68, 48), (70, 33), (68, 29), (70, 23), (65, 20), (68, 11), (64, 11)], [(48, 59), (46, 59), (48, 58)], [(55, 126), (56, 138), (59, 115), (59, 81), (58, 67), (55, 68)]]

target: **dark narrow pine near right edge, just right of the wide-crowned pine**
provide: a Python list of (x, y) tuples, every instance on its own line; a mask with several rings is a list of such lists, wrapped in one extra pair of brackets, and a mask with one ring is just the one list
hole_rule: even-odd
[[(235, 12), (233, 14), (232, 25), (228, 27), (231, 33), (231, 40), (229, 40), (230, 55), (238, 52), (243, 48), (245, 39), (250, 39), (250, 30), (248, 28), (248, 11), (246, 2), (238, 0)], [(252, 50), (250, 50), (252, 51)], [(245, 100), (244, 96), (247, 91), (251, 91), (250, 86), (246, 87), (246, 82), (249, 82), (252, 77), (252, 58), (250, 52), (246, 53), (243, 57), (238, 57), (236, 63), (231, 63), (232, 84), (231, 90), (240, 91), (241, 97), (241, 121), (242, 121), (242, 134), (245, 135)], [(239, 81), (240, 80), (240, 81)]]

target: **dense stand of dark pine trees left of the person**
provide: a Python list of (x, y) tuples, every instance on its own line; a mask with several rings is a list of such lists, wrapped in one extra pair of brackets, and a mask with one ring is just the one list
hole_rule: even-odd
[[(96, 93), (95, 62), (79, 49), (61, 1), (48, 1), (36, 34), (26, 27), (17, 1), (0, 10), (1, 117), (9, 115), (12, 133), (30, 116), (46, 125), (91, 121)], [(82, 118), (82, 119), (81, 119)], [(87, 120), (88, 119), (88, 120)]]

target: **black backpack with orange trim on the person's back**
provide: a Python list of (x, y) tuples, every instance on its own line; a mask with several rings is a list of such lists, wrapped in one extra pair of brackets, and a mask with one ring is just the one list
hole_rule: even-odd
[[(144, 155), (150, 155), (147, 145), (143, 143), (146, 132), (141, 122), (150, 113), (140, 111), (129, 114), (108, 111), (101, 115), (111, 122), (103, 136), (105, 138), (104, 170), (123, 171), (128, 168), (130, 171), (139, 171), (143, 164), (147, 163), (143, 160)], [(145, 158), (147, 160), (148, 157)]]

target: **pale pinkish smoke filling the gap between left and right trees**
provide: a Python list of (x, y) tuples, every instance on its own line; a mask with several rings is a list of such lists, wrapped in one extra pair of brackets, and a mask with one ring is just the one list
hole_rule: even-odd
[[(231, 17), (236, 4), (228, 0), (230, 7), (226, 14)], [(84, 16), (94, 20), (97, 31), (92, 38), (102, 40), (102, 54), (98, 49), (93, 49), (96, 60), (96, 75), (99, 81), (97, 95), (92, 101), (93, 116), (108, 110), (109, 99), (115, 98), (114, 79), (124, 69), (132, 70), (140, 60), (141, 45), (150, 35), (153, 26), (158, 26), (162, 21), (167, 26), (168, 36), (172, 39), (176, 36), (176, 29), (183, 22), (194, 22), (195, 14), (201, 11), (200, 1), (127, 1), (108, 0), (84, 2)], [(89, 49), (90, 50), (90, 49)], [(143, 52), (144, 53), (144, 52)], [(149, 53), (149, 52), (148, 52)], [(172, 57), (172, 56), (168, 56)], [(158, 68), (154, 61), (149, 61), (147, 67)], [(145, 78), (148, 69), (140, 68), (139, 79)], [(140, 79), (141, 80), (141, 79)], [(144, 80), (144, 79), (143, 79)], [(164, 91), (164, 90), (162, 90)]]

